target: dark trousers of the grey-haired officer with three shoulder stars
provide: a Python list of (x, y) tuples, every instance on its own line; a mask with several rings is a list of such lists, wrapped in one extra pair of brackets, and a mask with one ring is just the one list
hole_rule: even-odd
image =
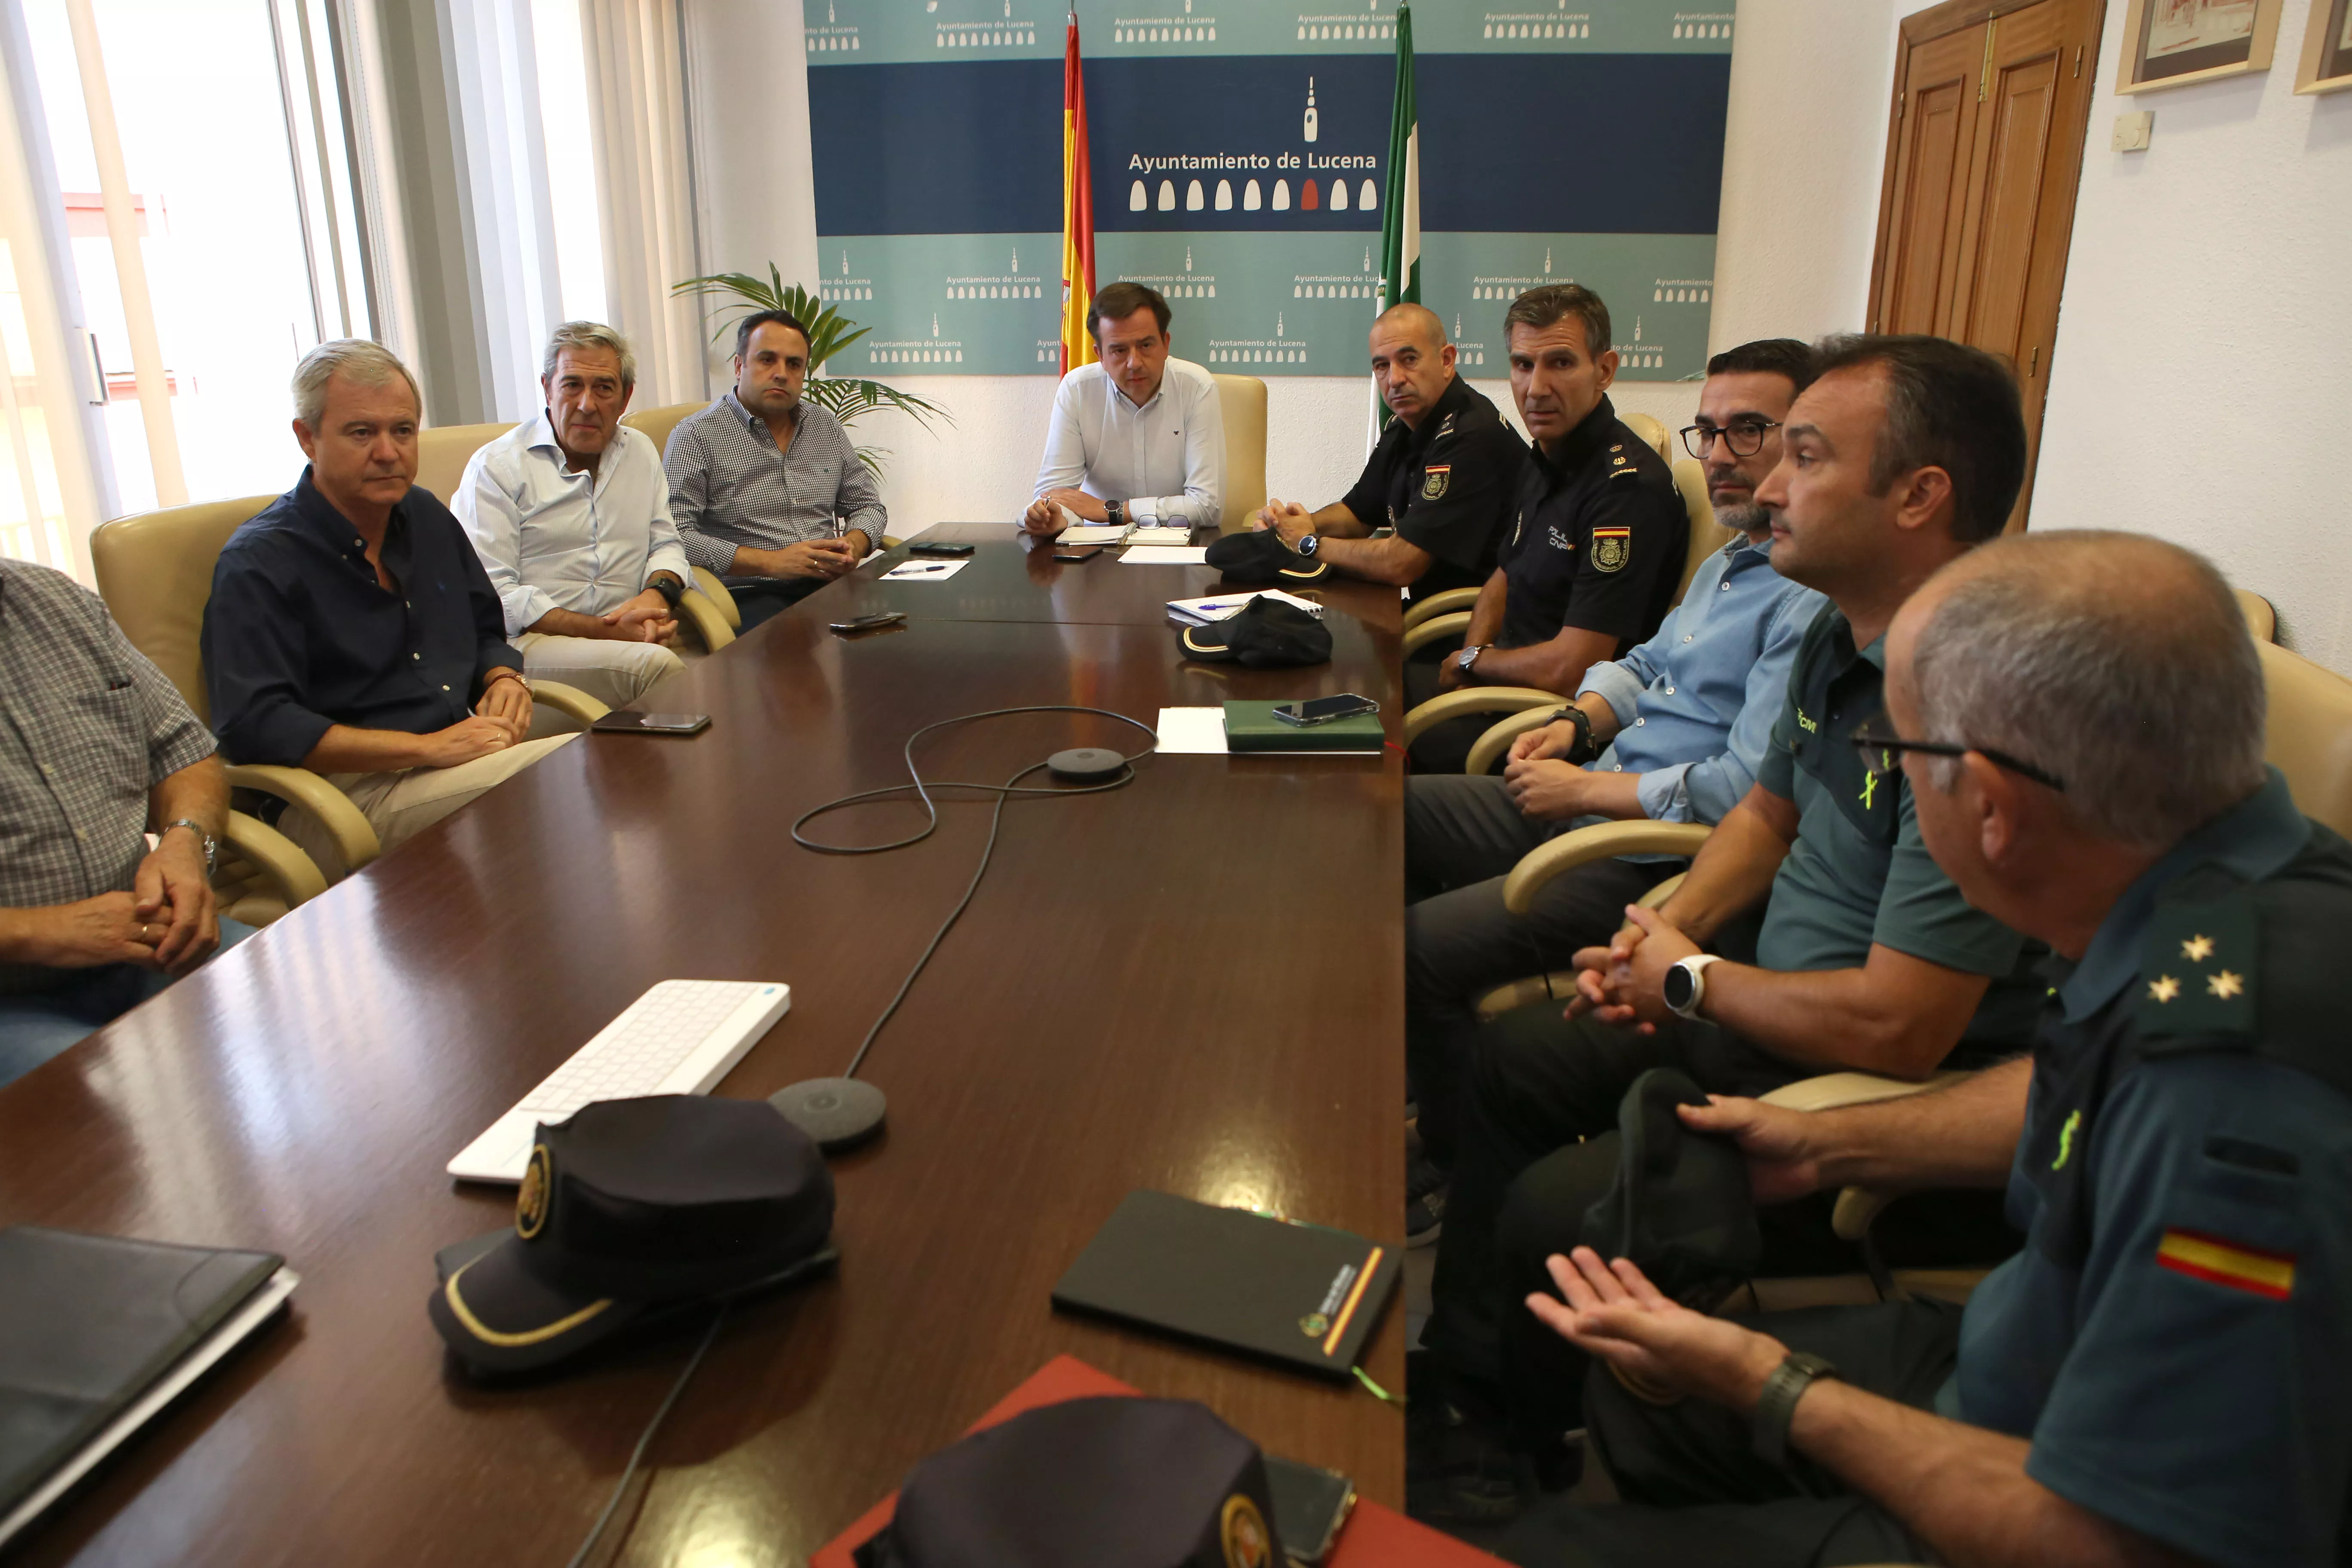
[[(1825, 1356), (1844, 1382), (1919, 1410), (1933, 1406), (1959, 1347), (1959, 1307), (1931, 1300), (1773, 1312), (1755, 1326)], [(1811, 1460), (1792, 1458), (1788, 1469), (1759, 1460), (1748, 1422), (1722, 1406), (1644, 1403), (1592, 1368), (1585, 1410), (1625, 1502), (1538, 1502), (1496, 1542), (1512, 1563), (1830, 1568), (1926, 1556), (1893, 1516)]]

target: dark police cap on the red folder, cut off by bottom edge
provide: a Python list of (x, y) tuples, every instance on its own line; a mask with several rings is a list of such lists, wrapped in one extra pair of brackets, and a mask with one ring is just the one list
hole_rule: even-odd
[(1265, 1458), (1188, 1399), (1073, 1399), (915, 1467), (861, 1568), (1277, 1568)]

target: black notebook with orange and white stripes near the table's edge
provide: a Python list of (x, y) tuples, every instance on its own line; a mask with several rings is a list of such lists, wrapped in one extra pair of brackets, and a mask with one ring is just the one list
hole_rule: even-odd
[(1129, 1192), (1054, 1305), (1345, 1378), (1397, 1288), (1395, 1246), (1169, 1192)]

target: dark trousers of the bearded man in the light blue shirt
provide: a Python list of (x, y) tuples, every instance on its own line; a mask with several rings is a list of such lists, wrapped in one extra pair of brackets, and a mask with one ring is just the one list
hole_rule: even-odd
[[(1526, 914), (1503, 907), (1503, 877), (1555, 832), (1503, 795), (1501, 778), (1416, 773), (1404, 780), (1404, 1051), (1421, 1103), (1421, 1140), (1451, 1166), (1461, 1126), (1461, 1063), (1477, 1037), (1477, 999), (1496, 985), (1566, 969), (1606, 943), (1625, 905), (1682, 860), (1595, 860), (1552, 879)], [(1566, 997), (1562, 997), (1564, 1001)]]

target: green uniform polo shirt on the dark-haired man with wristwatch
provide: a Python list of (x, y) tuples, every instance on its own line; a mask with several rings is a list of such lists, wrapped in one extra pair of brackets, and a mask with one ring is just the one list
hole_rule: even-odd
[[(1788, 703), (1757, 783), (1797, 804), (1797, 844), (1773, 877), (1757, 964), (1860, 969), (1872, 945), (1971, 976), (1994, 976), (1964, 1044), (2032, 1044), (2042, 947), (1969, 905), (1926, 853), (1903, 771), (1872, 778), (1849, 738), (1884, 712), (1886, 639), (1853, 646), (1825, 604), (1797, 649)], [(2006, 1053), (2002, 1051), (2002, 1053)]]

